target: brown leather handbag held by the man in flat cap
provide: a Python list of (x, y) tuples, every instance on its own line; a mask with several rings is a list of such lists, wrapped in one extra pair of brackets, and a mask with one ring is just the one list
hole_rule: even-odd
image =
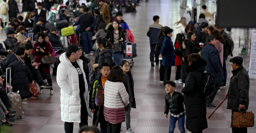
[[(246, 109), (244, 109), (246, 110)], [(240, 108), (238, 112), (234, 112), (231, 116), (231, 128), (232, 127), (253, 127), (254, 126), (254, 114), (252, 112), (243, 113)], [(247, 111), (247, 110), (246, 110)]]

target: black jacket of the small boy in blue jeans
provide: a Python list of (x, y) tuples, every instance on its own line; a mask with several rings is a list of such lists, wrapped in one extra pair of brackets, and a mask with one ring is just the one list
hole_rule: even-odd
[(168, 114), (169, 110), (172, 114), (178, 115), (185, 111), (184, 109), (184, 97), (180, 92), (174, 91), (172, 96), (167, 94), (165, 97), (164, 113)]

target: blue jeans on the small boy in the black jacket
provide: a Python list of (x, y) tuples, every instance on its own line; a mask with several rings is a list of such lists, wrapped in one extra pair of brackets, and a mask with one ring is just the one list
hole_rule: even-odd
[(170, 127), (169, 127), (169, 133), (173, 133), (175, 129), (176, 121), (178, 120), (178, 126), (181, 133), (185, 133), (185, 114), (181, 115), (180, 117), (176, 118), (170, 115)]

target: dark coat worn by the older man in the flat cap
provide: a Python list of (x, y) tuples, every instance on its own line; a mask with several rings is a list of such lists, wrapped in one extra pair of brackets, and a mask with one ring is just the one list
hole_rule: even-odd
[(244, 66), (232, 70), (233, 76), (230, 79), (228, 88), (227, 109), (238, 110), (239, 104), (244, 105), (248, 110), (250, 78)]

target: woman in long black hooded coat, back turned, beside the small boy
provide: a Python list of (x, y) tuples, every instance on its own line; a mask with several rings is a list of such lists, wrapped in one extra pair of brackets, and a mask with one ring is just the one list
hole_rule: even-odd
[(202, 133), (208, 127), (206, 119), (206, 96), (203, 90), (204, 70), (207, 62), (197, 53), (188, 56), (186, 67), (188, 78), (185, 87), (184, 104), (186, 111), (186, 129), (192, 133)]

